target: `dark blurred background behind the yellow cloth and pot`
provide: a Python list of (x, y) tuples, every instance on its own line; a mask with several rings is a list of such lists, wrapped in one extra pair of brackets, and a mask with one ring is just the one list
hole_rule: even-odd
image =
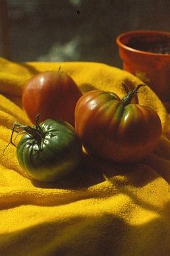
[[(1, 0), (3, 1), (3, 0)], [(116, 38), (170, 30), (169, 0), (8, 0), (12, 61), (97, 61), (122, 67)], [(2, 56), (2, 40), (0, 38)]]

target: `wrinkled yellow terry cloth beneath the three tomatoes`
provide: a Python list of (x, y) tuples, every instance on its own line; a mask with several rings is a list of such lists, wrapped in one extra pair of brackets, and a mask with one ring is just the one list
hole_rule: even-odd
[(0, 255), (169, 256), (169, 114), (145, 86), (138, 102), (159, 114), (163, 135), (137, 164), (115, 164), (84, 156), (71, 179), (47, 185), (24, 176), (10, 144), (13, 122), (31, 124), (20, 100), (24, 84), (38, 72), (71, 75), (82, 92), (92, 88), (125, 95), (140, 80), (102, 63), (14, 63), (0, 59)]

